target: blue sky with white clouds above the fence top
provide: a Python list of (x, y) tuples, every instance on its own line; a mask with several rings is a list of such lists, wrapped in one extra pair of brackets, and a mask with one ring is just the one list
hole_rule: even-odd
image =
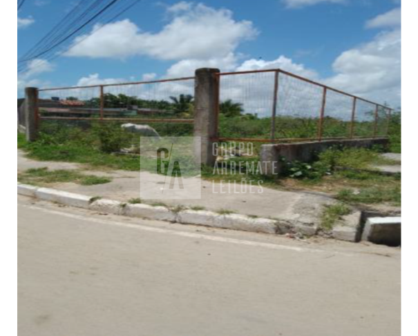
[[(75, 3), (26, 0), (17, 13), (18, 57)], [(188, 77), (205, 67), (281, 68), (401, 106), (400, 0), (143, 0), (79, 39), (64, 55), (39, 59), (18, 75), (18, 95), (26, 86)]]

